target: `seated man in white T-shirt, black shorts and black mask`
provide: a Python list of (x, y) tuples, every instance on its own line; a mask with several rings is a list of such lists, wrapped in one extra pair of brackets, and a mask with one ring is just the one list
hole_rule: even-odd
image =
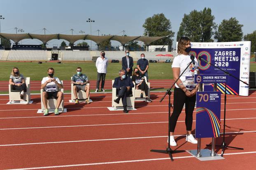
[(61, 81), (58, 77), (54, 77), (54, 68), (48, 68), (48, 77), (44, 77), (42, 79), (41, 83), (41, 89), (44, 89), (44, 92), (42, 93), (42, 100), (44, 104), (44, 116), (49, 115), (49, 111), (47, 108), (47, 99), (57, 99), (57, 106), (55, 108), (54, 114), (58, 115), (58, 108), (61, 105), (61, 101), (63, 98), (63, 93), (61, 91), (58, 91), (58, 88), (63, 88), (63, 85), (61, 84)]

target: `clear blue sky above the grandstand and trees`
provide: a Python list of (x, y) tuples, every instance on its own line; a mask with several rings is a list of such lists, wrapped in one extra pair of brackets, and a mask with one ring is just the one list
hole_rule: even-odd
[[(22, 28), (25, 33), (44, 34), (80, 34), (83, 30), (90, 34), (88, 18), (92, 23), (92, 34), (140, 36), (146, 18), (163, 13), (172, 23), (176, 35), (184, 14), (204, 7), (212, 9), (214, 22), (220, 24), (223, 19), (237, 18), (243, 24), (244, 34), (256, 30), (255, 0), (0, 0), (1, 32), (15, 33), (14, 27)], [(52, 40), (48, 46), (60, 45), (63, 40)], [(87, 41), (88, 43), (90, 41)], [(23, 40), (23, 44), (40, 44), (39, 40)], [(112, 41), (112, 45), (119, 42)], [(95, 46), (93, 44), (92, 46)]]

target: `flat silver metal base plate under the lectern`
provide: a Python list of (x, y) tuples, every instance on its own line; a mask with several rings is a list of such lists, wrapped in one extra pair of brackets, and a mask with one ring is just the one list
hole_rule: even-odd
[(213, 160), (220, 160), (220, 159), (225, 159), (219, 155), (211, 156), (212, 151), (208, 149), (201, 150), (201, 156), (197, 157), (197, 150), (188, 150), (191, 155), (195, 156), (199, 161), (213, 161)]

